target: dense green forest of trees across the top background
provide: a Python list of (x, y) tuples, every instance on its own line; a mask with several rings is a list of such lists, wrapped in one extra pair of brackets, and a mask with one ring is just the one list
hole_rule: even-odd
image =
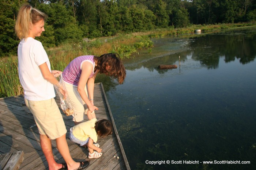
[(16, 54), (14, 24), (24, 3), (48, 15), (39, 38), (45, 47), (158, 28), (256, 21), (256, 0), (1, 0), (0, 57)]

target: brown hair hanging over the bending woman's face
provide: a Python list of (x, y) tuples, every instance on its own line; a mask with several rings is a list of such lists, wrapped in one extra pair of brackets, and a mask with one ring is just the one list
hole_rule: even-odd
[[(99, 73), (113, 76), (117, 78), (119, 84), (123, 83), (126, 76), (126, 70), (118, 54), (107, 53), (99, 57), (94, 56), (94, 61), (97, 62), (96, 69), (99, 70)], [(107, 66), (110, 66), (109, 70), (106, 69)]]

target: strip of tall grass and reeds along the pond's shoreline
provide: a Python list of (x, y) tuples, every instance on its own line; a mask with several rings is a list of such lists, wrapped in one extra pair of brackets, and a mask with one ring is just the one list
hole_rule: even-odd
[[(215, 25), (193, 25), (191, 27), (174, 29), (174, 27), (157, 29), (145, 32), (134, 32), (131, 34), (119, 34), (116, 36), (92, 39), (90, 42), (66, 43), (58, 47), (45, 48), (50, 59), (52, 70), (63, 70), (72, 59), (80, 55), (96, 55), (104, 53), (117, 53), (121, 59), (131, 58), (132, 54), (138, 53), (140, 49), (151, 49), (154, 44), (151, 38), (164, 36), (191, 36), (195, 30), (212, 32), (230, 28), (256, 26), (256, 22), (215, 24)], [(23, 88), (18, 76), (18, 57), (9, 56), (0, 59), (0, 97), (18, 96), (23, 94)]]

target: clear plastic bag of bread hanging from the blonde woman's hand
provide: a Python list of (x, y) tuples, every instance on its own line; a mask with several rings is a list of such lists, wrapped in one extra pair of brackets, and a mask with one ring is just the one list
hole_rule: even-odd
[(65, 84), (62, 78), (62, 74), (60, 74), (59, 76), (60, 81), (57, 85), (53, 85), (54, 89), (56, 90), (57, 94), (60, 97), (60, 107), (63, 110), (63, 112), (65, 113), (65, 115), (70, 116), (74, 113), (74, 110), (72, 109), (72, 105), (71, 102), (69, 100), (68, 95), (63, 96), (63, 94), (60, 92), (60, 87), (62, 89), (65, 90), (65, 92), (67, 92), (67, 89), (65, 88)]

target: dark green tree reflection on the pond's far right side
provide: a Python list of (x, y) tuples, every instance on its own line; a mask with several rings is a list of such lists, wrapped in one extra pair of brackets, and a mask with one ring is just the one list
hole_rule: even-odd
[(219, 58), (222, 56), (225, 57), (225, 62), (234, 61), (236, 58), (242, 64), (254, 61), (256, 57), (256, 33), (234, 34), (205, 35), (196, 41), (191, 41), (189, 46), (194, 49), (192, 58), (200, 61), (209, 69), (218, 68)]

